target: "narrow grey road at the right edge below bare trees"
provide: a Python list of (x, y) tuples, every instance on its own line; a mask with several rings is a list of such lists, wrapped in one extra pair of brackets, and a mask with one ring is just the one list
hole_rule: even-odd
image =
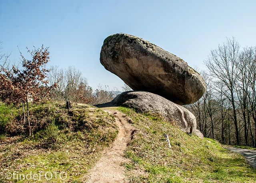
[(256, 151), (255, 150), (246, 150), (240, 148), (233, 148), (233, 147), (225, 147), (226, 149), (242, 154), (248, 161), (248, 163), (256, 168)]

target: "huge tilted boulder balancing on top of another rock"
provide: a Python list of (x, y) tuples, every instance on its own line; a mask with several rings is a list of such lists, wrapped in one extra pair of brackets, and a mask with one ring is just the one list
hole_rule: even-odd
[(181, 58), (124, 33), (104, 40), (100, 63), (133, 90), (152, 92), (180, 105), (196, 102), (206, 89), (200, 74)]

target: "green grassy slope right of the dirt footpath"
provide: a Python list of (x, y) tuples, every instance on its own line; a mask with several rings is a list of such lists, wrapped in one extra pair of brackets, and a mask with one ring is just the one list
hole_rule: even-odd
[[(188, 135), (157, 116), (120, 107), (137, 129), (125, 154), (130, 182), (256, 182), (256, 170), (215, 140)], [(172, 148), (168, 148), (168, 134)], [(136, 173), (142, 172), (142, 173)]]

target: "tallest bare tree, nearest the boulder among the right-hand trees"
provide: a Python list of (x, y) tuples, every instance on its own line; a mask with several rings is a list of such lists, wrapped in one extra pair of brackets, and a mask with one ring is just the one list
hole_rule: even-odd
[[(223, 83), (227, 87), (224, 95), (230, 100), (233, 110), (233, 120), (236, 133), (236, 144), (240, 144), (238, 119), (236, 112), (236, 101), (235, 101), (235, 83), (237, 82), (238, 69), (236, 62), (239, 57), (240, 46), (233, 37), (227, 39), (223, 45), (219, 45), (218, 49), (212, 50), (206, 63), (210, 71), (210, 75), (216, 78), (216, 82)], [(218, 88), (217, 88), (218, 90)]]

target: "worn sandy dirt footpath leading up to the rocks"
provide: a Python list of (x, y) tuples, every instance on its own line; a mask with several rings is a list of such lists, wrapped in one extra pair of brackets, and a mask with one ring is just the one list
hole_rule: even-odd
[(132, 138), (134, 128), (129, 123), (130, 118), (125, 114), (112, 109), (104, 109), (116, 118), (119, 132), (112, 146), (104, 151), (96, 165), (89, 171), (87, 183), (124, 183), (123, 163), (128, 160), (124, 157), (124, 150)]

